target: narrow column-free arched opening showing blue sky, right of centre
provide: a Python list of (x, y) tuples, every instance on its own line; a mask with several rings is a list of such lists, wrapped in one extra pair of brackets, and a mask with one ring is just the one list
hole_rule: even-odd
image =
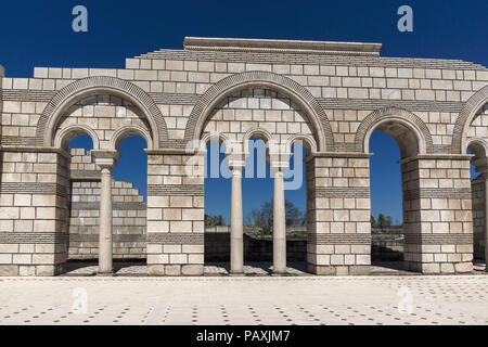
[(419, 201), (409, 192), (419, 185), (409, 158), (421, 153), (421, 137), (410, 124), (385, 119), (365, 138), (370, 159), (372, 273), (408, 270), (406, 234), (419, 231)]

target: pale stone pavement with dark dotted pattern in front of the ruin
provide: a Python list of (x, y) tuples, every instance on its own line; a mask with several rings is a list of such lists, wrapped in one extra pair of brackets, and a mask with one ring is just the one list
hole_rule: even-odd
[(0, 297), (2, 325), (488, 324), (483, 273), (3, 278)]

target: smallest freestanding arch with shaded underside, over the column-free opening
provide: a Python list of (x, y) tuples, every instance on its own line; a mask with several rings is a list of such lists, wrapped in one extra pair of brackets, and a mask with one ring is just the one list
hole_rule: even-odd
[[(400, 146), (403, 158), (414, 155), (415, 152), (416, 154), (435, 152), (432, 134), (427, 126), (419, 116), (409, 111), (386, 107), (370, 114), (356, 132), (355, 147), (357, 152), (369, 152), (369, 141), (374, 130), (383, 130), (394, 137)], [(410, 141), (412, 139), (409, 138), (411, 136), (414, 137), (416, 147), (411, 147)]]

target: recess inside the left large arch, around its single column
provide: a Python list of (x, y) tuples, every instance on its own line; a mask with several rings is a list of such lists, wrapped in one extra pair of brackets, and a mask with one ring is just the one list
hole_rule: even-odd
[(79, 134), (85, 134), (91, 138), (90, 150), (94, 151), (70, 153), (70, 168), (66, 174), (70, 182), (67, 202), (70, 217), (66, 223), (68, 274), (98, 272), (98, 261), (102, 258), (99, 257), (102, 170), (99, 157), (93, 155), (111, 153), (123, 157), (111, 166), (113, 255), (106, 258), (115, 261), (116, 274), (145, 274), (147, 156), (144, 150), (154, 146), (149, 119), (138, 106), (112, 94), (90, 94), (74, 102), (54, 124), (53, 144), (66, 150), (69, 143), (80, 141)]

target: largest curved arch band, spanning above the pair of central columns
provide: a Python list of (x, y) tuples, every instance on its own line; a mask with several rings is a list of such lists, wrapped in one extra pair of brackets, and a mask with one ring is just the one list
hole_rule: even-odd
[(190, 115), (185, 140), (198, 140), (205, 120), (226, 97), (244, 88), (266, 88), (290, 97), (307, 115), (318, 137), (319, 151), (334, 151), (334, 138), (329, 118), (319, 102), (303, 86), (287, 77), (269, 72), (247, 72), (229, 76), (214, 85), (201, 97)]

